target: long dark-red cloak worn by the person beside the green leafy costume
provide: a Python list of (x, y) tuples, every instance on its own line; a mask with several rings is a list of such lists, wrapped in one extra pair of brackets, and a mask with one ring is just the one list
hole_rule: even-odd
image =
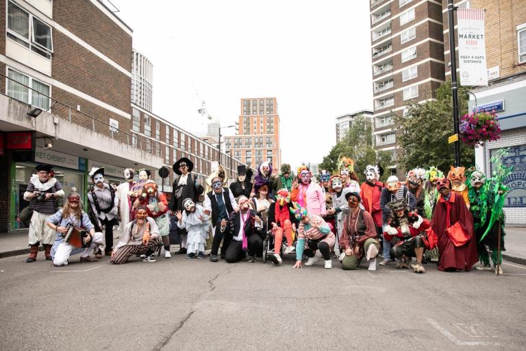
[[(448, 215), (449, 213), (449, 215)], [(462, 246), (455, 246), (446, 232), (447, 228), (459, 222), (464, 235), (469, 239)], [(473, 216), (469, 212), (462, 195), (451, 191), (449, 200), (443, 197), (438, 199), (431, 228), (438, 236), (438, 269), (464, 269), (470, 270), (477, 263), (477, 242), (473, 232)]]

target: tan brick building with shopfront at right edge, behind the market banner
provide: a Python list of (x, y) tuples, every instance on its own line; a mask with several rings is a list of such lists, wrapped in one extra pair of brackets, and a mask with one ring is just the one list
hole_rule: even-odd
[[(449, 62), (447, 1), (442, 1), (442, 4), (444, 61)], [(484, 9), (488, 86), (474, 87), (471, 90), (469, 110), (470, 112), (494, 110), (499, 117), (502, 132), (499, 140), (475, 148), (475, 163), (484, 173), (491, 175), (494, 171), (491, 157), (499, 149), (509, 148), (509, 154), (503, 159), (503, 164), (513, 166), (514, 169), (504, 180), (504, 184), (511, 189), (504, 202), (504, 212), (507, 224), (519, 226), (526, 224), (525, 4), (525, 1), (516, 0), (455, 1), (455, 6), (460, 8)], [(455, 24), (457, 13), (454, 12)], [(458, 45), (456, 30), (455, 45)], [(455, 51), (458, 58), (458, 46), (455, 47)], [(451, 69), (446, 67), (446, 77), (450, 75)], [(460, 82), (460, 69), (457, 69), (457, 79)]]

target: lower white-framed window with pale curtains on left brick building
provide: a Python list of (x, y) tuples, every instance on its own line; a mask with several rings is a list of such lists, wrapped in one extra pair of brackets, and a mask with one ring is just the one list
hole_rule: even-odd
[[(48, 96), (50, 95), (49, 93), (51, 90), (49, 85), (39, 82), (38, 80), (18, 71), (14, 71), (13, 69), (8, 69), (8, 77), (11, 78), (11, 80), (8, 80), (9, 97), (42, 108), (42, 110), (49, 109), (50, 105)], [(31, 86), (34, 90), (26, 88), (24, 85)]]

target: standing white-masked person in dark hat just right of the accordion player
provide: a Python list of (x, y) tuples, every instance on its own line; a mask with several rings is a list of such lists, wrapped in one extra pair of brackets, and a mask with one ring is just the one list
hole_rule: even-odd
[[(113, 248), (113, 226), (118, 214), (118, 195), (110, 184), (104, 182), (104, 167), (92, 167), (90, 171), (92, 188), (88, 191), (88, 202), (92, 223), (97, 232), (104, 230), (106, 256), (111, 256)], [(101, 254), (97, 252), (97, 257)]]

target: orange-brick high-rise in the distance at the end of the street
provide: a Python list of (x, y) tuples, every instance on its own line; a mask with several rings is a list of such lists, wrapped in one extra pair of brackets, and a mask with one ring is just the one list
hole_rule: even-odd
[(225, 149), (253, 168), (266, 160), (279, 170), (281, 149), (276, 98), (241, 99), (240, 108), (239, 132), (225, 136)]

